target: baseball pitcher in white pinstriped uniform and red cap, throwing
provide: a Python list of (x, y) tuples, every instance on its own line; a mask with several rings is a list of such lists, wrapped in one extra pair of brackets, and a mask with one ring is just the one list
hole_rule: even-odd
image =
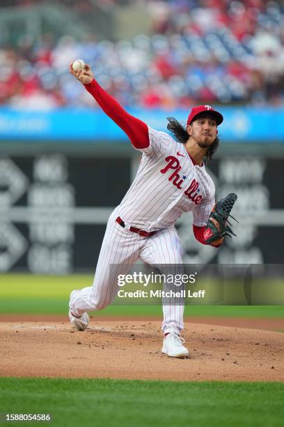
[[(129, 137), (142, 158), (136, 177), (122, 202), (109, 217), (97, 261), (93, 286), (70, 295), (70, 322), (88, 327), (88, 311), (102, 310), (118, 292), (118, 274), (127, 274), (140, 259), (150, 265), (182, 264), (182, 247), (175, 222), (193, 213), (193, 232), (200, 244), (219, 247), (225, 234), (233, 234), (228, 216), (237, 196), (230, 194), (215, 204), (215, 188), (205, 170), (219, 145), (217, 126), (222, 115), (210, 105), (194, 107), (184, 128), (168, 118), (167, 133), (150, 128), (121, 107), (95, 80), (90, 66), (70, 73), (84, 85), (102, 110)], [(117, 266), (109, 268), (109, 266)], [(187, 357), (180, 333), (183, 304), (164, 304), (162, 352)]]

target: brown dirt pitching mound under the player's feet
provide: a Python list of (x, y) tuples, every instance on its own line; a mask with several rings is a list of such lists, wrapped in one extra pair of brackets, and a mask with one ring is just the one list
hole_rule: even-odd
[(161, 354), (160, 322), (1, 322), (1, 376), (283, 381), (284, 334), (186, 324), (189, 359)]

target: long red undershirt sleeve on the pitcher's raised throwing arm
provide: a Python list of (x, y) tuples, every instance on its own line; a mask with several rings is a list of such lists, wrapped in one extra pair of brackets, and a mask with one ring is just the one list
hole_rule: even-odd
[(100, 84), (95, 79), (84, 86), (95, 98), (102, 110), (122, 128), (135, 148), (144, 149), (149, 147), (150, 140), (146, 123), (127, 113), (109, 93), (100, 87)]

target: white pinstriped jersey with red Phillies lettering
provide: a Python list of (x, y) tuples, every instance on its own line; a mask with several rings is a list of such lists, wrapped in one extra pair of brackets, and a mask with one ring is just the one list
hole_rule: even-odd
[(146, 231), (175, 224), (192, 211), (194, 224), (206, 225), (215, 203), (214, 182), (205, 166), (192, 163), (184, 144), (149, 128), (150, 146), (142, 151), (136, 177), (118, 206), (120, 218)]

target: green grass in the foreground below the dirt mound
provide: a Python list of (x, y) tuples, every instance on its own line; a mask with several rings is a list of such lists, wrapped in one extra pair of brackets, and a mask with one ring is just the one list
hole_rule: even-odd
[(279, 382), (0, 378), (0, 412), (50, 413), (52, 426), (272, 427), (283, 393)]

